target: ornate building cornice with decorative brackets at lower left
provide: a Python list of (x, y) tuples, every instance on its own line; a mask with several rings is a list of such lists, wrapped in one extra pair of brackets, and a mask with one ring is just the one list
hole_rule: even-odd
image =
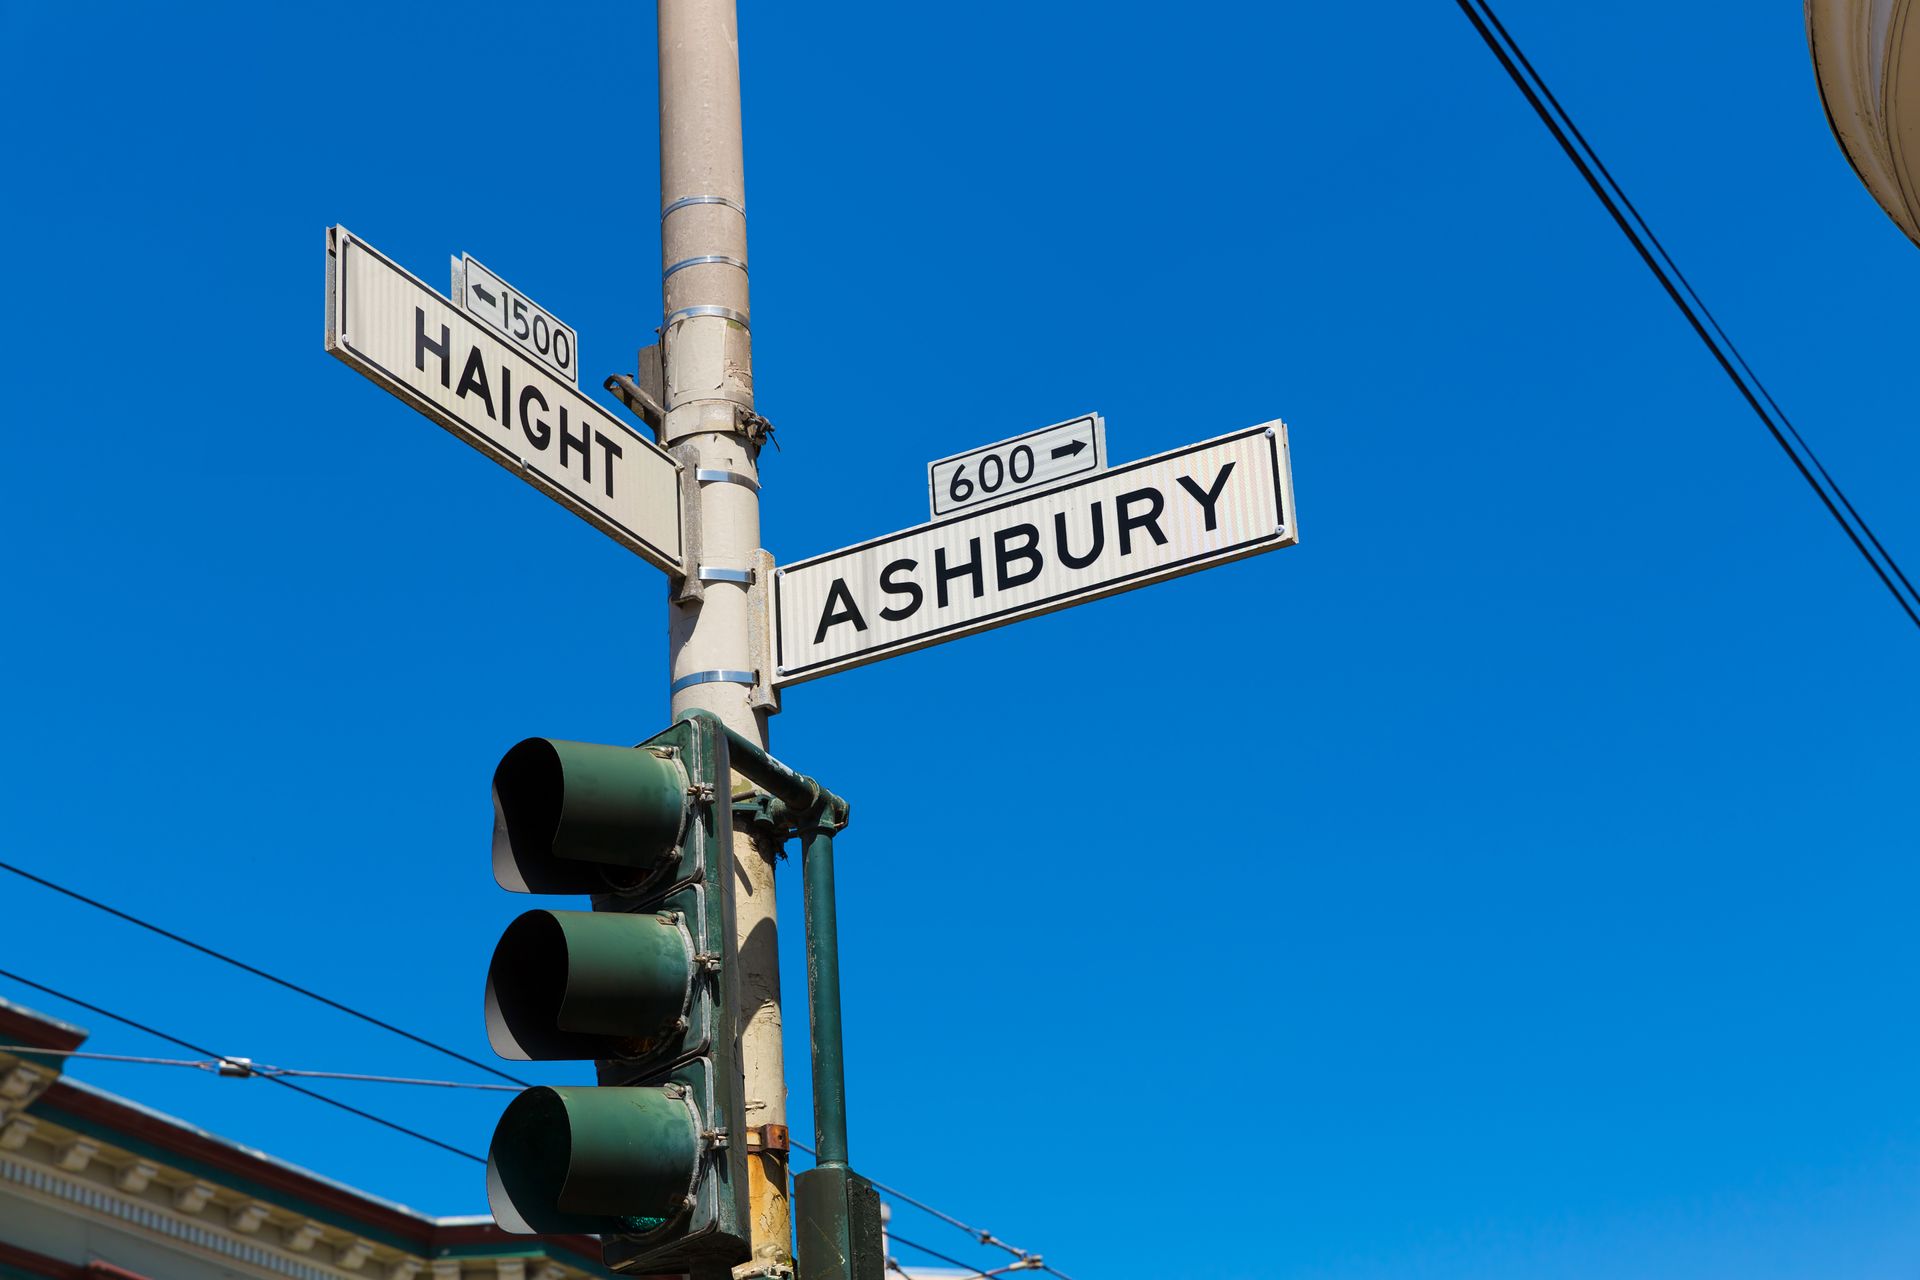
[[(79, 1027), (0, 1002), (0, 1046)], [(586, 1236), (509, 1236), (330, 1182), (0, 1050), (0, 1280), (586, 1280)]]

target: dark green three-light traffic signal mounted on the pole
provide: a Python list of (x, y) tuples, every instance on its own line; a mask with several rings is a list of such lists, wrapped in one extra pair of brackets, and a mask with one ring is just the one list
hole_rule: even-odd
[(488, 1203), (509, 1232), (599, 1236), (612, 1270), (751, 1255), (728, 747), (689, 716), (639, 747), (526, 739), (493, 771), (495, 879), (593, 910), (507, 927), (488, 1038), (599, 1084), (515, 1098)]

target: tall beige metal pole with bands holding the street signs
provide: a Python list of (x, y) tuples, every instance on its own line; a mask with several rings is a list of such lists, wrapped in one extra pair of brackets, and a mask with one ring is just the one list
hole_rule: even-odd
[[(672, 714), (708, 710), (766, 747), (753, 704), (749, 585), (760, 547), (747, 311), (747, 186), (739, 127), (739, 29), (733, 0), (659, 0), (660, 17), (660, 326), (664, 443), (699, 487), (687, 533), (687, 581), (668, 604)], [(755, 1263), (791, 1268), (787, 1086), (780, 1046), (774, 850), (735, 835), (735, 933), (743, 1007), (741, 1063)], [(780, 1140), (766, 1140), (774, 1134)], [(747, 1140), (741, 1134), (737, 1140)]]

